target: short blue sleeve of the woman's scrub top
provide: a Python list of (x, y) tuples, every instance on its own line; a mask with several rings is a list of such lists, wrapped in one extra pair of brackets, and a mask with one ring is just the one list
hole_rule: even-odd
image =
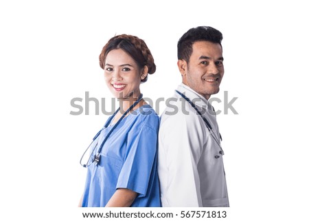
[(144, 124), (128, 134), (128, 152), (120, 171), (117, 188), (127, 188), (146, 196), (152, 171), (157, 160), (157, 134), (159, 117), (152, 120), (151, 127)]

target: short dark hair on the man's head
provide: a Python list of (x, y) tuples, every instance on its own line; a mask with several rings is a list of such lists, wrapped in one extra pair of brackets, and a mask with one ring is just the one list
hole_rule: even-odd
[[(185, 60), (189, 62), (192, 54), (192, 45), (196, 41), (210, 41), (212, 43), (218, 43), (221, 45), (222, 33), (209, 26), (198, 26), (191, 28), (178, 41), (177, 44), (177, 56), (179, 60)], [(222, 45), (221, 45), (222, 48)]]

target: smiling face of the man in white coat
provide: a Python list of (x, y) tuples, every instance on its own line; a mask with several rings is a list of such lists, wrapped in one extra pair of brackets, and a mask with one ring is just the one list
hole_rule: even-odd
[(219, 92), (225, 73), (222, 48), (218, 43), (197, 41), (192, 49), (189, 63), (179, 60), (183, 83), (208, 100), (211, 94)]

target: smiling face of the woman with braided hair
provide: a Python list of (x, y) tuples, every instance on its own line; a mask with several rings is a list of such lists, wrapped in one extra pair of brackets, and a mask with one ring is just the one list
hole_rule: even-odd
[(141, 94), (139, 91), (141, 75), (141, 68), (124, 50), (111, 50), (106, 55), (104, 64), (105, 82), (115, 98), (138, 97)]

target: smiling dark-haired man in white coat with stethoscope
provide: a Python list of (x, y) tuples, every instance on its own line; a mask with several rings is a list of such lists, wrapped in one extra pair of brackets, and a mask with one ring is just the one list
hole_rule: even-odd
[(229, 207), (216, 113), (208, 103), (224, 74), (222, 34), (200, 26), (178, 42), (182, 83), (161, 116), (159, 180), (163, 207)]

